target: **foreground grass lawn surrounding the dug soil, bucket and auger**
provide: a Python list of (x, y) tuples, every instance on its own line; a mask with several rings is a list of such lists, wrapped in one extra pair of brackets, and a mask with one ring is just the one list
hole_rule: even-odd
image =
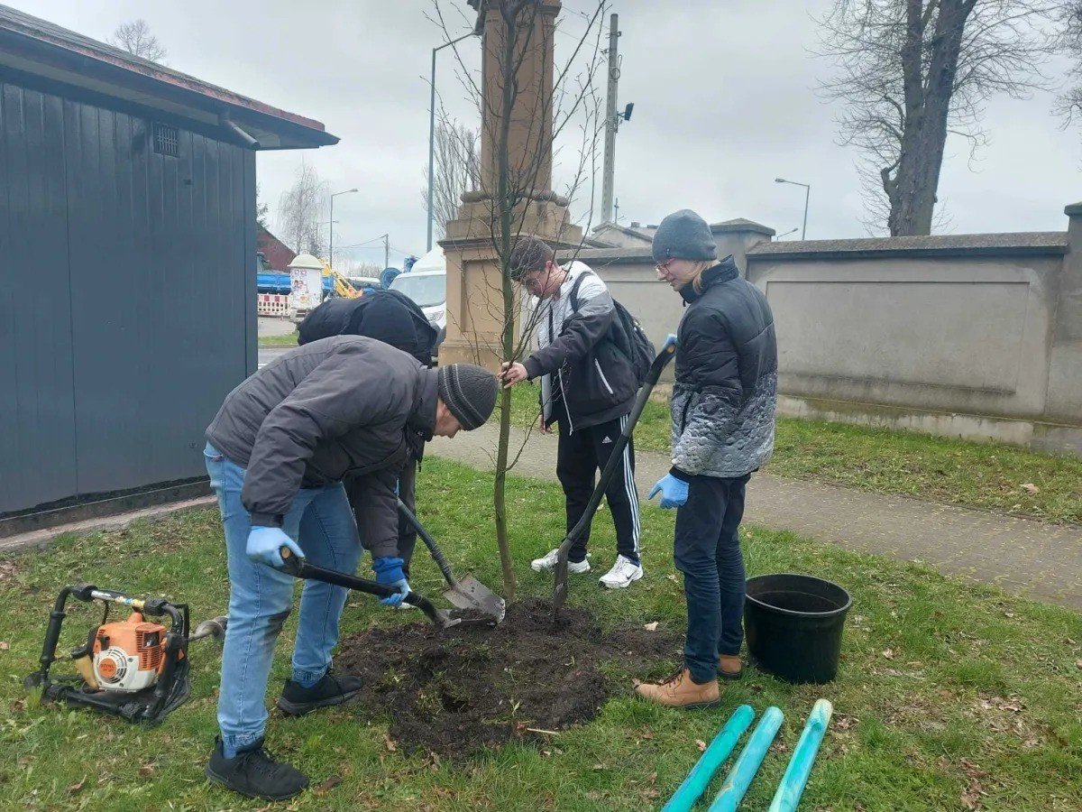
[[(452, 565), (499, 584), (491, 481), (473, 469), (427, 459), (421, 515)], [(512, 477), (509, 508), (520, 591), (547, 594), (551, 577), (529, 558), (560, 538), (558, 486)], [(644, 506), (647, 577), (603, 592), (597, 572), (571, 576), (570, 602), (605, 624), (660, 621), (681, 631), (684, 604), (670, 551), (673, 516)], [(813, 703), (834, 703), (802, 810), (1015, 810), (1082, 808), (1082, 616), (963, 584), (927, 567), (894, 563), (756, 527), (744, 536), (752, 574), (822, 575), (854, 594), (839, 680), (791, 686), (753, 669), (725, 686), (722, 707), (679, 712), (620, 694), (593, 722), (554, 736), (546, 751), (512, 746), (467, 764), (435, 762), (388, 747), (383, 719), (343, 706), (301, 719), (272, 716), (269, 744), (309, 773), (316, 789), (299, 810), (633, 810), (658, 808), (734, 708), (768, 705), (786, 723), (743, 809), (765, 809)], [(603, 513), (595, 571), (615, 555)], [(418, 552), (413, 586), (438, 593), (435, 566)], [(361, 564), (367, 572), (367, 560)], [(226, 606), (223, 545), (214, 511), (159, 524), (57, 541), (48, 552), (0, 561), (0, 808), (101, 810), (260, 809), (207, 784), (202, 767), (215, 732), (216, 643), (193, 644), (193, 699), (153, 730), (88, 711), (39, 706), (21, 686), (40, 653), (61, 586), (164, 594), (192, 604), (193, 619)], [(114, 616), (118, 613), (114, 612)], [(84, 640), (100, 610), (71, 611), (61, 650)], [(352, 597), (343, 632), (418, 623)], [(272, 691), (287, 675), (293, 630), (282, 637)], [(196, 647), (198, 646), (198, 647)], [(631, 678), (612, 673), (625, 681)], [(644, 677), (647, 675), (637, 675)], [(272, 694), (273, 696), (273, 694)], [(720, 777), (711, 785), (716, 791)], [(283, 804), (285, 806), (285, 804)], [(703, 807), (704, 808), (704, 807)]]

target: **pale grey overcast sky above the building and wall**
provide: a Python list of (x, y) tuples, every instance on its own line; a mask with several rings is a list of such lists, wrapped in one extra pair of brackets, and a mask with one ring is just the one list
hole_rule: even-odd
[[(431, 49), (443, 32), (431, 0), (4, 0), (95, 39), (143, 17), (167, 64), (262, 102), (316, 118), (342, 139), (318, 150), (263, 153), (262, 199), (272, 207), (302, 155), (333, 191), (339, 246), (391, 235), (392, 264), (423, 252), (422, 171), (427, 155)], [(444, 0), (453, 27), (465, 0)], [(615, 0), (620, 14), (620, 105), (635, 103), (617, 141), (620, 221), (656, 223), (689, 207), (709, 221), (748, 218), (779, 233), (801, 225), (812, 184), (808, 238), (859, 237), (862, 202), (848, 147), (836, 144), (836, 109), (815, 92), (828, 65), (813, 55), (812, 15), (829, 0)], [(590, 0), (565, 0), (557, 61), (584, 26)], [(607, 26), (607, 22), (606, 22)], [(461, 43), (475, 65), (479, 43)], [(447, 108), (475, 114), (440, 52), (437, 88)], [(1061, 231), (1064, 206), (1082, 200), (1082, 132), (1064, 131), (1053, 99), (993, 101), (991, 145), (971, 168), (949, 143), (939, 199), (956, 234)], [(566, 171), (566, 167), (565, 167)], [(599, 193), (598, 193), (599, 198)], [(584, 217), (582, 206), (576, 214)], [(595, 219), (596, 222), (596, 219)], [(793, 236), (799, 236), (793, 235)], [(382, 262), (372, 243), (357, 259)]]

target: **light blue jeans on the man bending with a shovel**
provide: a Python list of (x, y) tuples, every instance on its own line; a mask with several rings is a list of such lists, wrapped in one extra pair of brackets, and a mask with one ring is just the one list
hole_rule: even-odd
[[(229, 562), (229, 624), (222, 650), (222, 684), (217, 724), (226, 757), (263, 737), (267, 709), (264, 697), (270, 677), (275, 641), (293, 604), (296, 580), (248, 559), (248, 511), (240, 502), (245, 469), (210, 444), (203, 449), (210, 486), (217, 495)], [(282, 529), (313, 564), (353, 573), (362, 552), (357, 524), (341, 483), (296, 493)], [(308, 685), (330, 668), (338, 644), (339, 618), (348, 590), (307, 580), (293, 642), (293, 680)]]

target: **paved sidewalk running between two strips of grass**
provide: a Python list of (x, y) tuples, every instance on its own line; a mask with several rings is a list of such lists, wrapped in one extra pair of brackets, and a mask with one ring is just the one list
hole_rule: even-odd
[[(512, 448), (524, 434), (512, 430)], [(492, 468), (498, 431), (486, 425), (436, 438), (432, 454)], [(515, 437), (518, 444), (515, 444)], [(533, 432), (514, 473), (554, 480), (556, 436)], [(669, 470), (664, 455), (636, 456), (639, 493)], [(745, 520), (854, 550), (920, 560), (951, 575), (997, 584), (1032, 600), (1082, 611), (1082, 525), (1055, 525), (901, 496), (787, 480), (752, 477)]]

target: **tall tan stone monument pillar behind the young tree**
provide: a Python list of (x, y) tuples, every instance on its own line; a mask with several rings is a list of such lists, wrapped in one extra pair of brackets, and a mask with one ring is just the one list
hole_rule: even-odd
[[(439, 243), (447, 258), (447, 337), (439, 363), (469, 361), (493, 370), (504, 326), (505, 258), (497, 202), (502, 144), (511, 187), (518, 192), (511, 245), (519, 235), (539, 237), (553, 248), (577, 246), (582, 239), (582, 230), (569, 222), (567, 200), (552, 191), (553, 38), (560, 0), (526, 3), (510, 35), (503, 2), (470, 0), (484, 30), (481, 185), (463, 195), (459, 215), (447, 224)], [(517, 92), (509, 91), (505, 100), (503, 75), (511, 71)], [(504, 120), (507, 100), (513, 104)]]

